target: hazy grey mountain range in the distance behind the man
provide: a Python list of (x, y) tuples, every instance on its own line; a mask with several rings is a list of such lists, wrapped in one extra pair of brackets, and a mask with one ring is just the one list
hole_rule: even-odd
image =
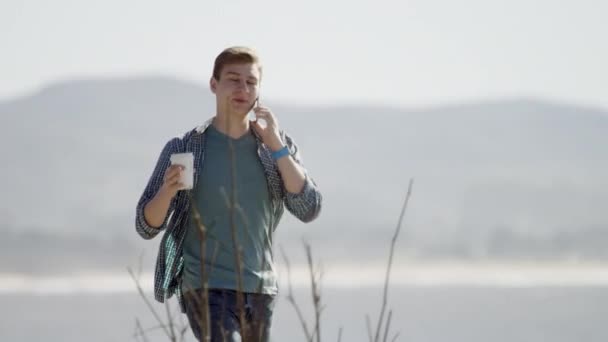
[[(285, 217), (277, 240), (288, 248), (305, 236), (327, 258), (384, 258), (414, 177), (400, 255), (608, 258), (606, 110), (265, 104), (324, 193), (317, 221)], [(70, 239), (156, 247), (136, 236), (135, 203), (164, 143), (213, 112), (206, 87), (160, 77), (64, 82), (0, 103), (3, 253), (7, 241), (10, 255), (45, 250), (28, 244), (36, 236), (65, 249)]]

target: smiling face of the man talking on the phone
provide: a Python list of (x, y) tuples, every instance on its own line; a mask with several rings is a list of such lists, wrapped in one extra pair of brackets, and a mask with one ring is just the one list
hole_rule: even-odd
[(211, 78), (211, 91), (219, 108), (238, 114), (247, 114), (258, 97), (260, 71), (257, 64), (227, 64), (220, 79)]

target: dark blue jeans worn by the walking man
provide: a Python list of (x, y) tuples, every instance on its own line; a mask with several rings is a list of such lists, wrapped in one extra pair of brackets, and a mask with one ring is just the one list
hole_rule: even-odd
[[(186, 315), (190, 328), (198, 341), (201, 336), (200, 303), (202, 289), (184, 294)], [(267, 342), (270, 338), (270, 325), (275, 297), (259, 293), (243, 293), (246, 336), (242, 335), (237, 305), (237, 291), (225, 289), (209, 290), (209, 319), (211, 342)]]

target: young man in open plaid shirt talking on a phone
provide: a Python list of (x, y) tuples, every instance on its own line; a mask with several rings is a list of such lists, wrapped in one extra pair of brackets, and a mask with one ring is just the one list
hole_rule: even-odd
[[(175, 293), (199, 340), (204, 308), (211, 341), (268, 340), (278, 292), (273, 232), (284, 207), (303, 222), (321, 210), (298, 147), (258, 104), (261, 77), (249, 48), (217, 56), (209, 83), (215, 116), (167, 142), (137, 204), (136, 230), (144, 239), (164, 230), (155, 298), (164, 302)], [(170, 162), (184, 152), (194, 155), (190, 190), (180, 190), (183, 166)]]

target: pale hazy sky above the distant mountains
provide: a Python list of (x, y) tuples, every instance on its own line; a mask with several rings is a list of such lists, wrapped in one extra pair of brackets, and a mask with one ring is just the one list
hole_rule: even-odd
[(607, 15), (604, 0), (0, 0), (0, 100), (73, 78), (206, 84), (238, 44), (278, 101), (608, 107)]

